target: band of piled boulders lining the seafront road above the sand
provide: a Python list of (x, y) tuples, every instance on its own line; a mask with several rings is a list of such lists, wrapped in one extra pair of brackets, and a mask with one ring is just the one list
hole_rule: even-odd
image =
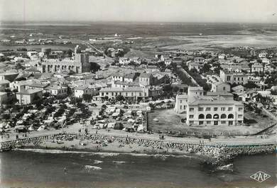
[(227, 146), (217, 143), (200, 141), (187, 141), (187, 140), (170, 140), (162, 138), (139, 138), (136, 136), (105, 136), (101, 134), (88, 134), (78, 133), (78, 134), (59, 134), (51, 136), (38, 136), (33, 138), (23, 138), (18, 140), (11, 140), (1, 143), (1, 148), (16, 148), (16, 145), (26, 145), (28, 143), (33, 143), (34, 145), (43, 143), (43, 141), (51, 142), (61, 142), (61, 141), (72, 141), (79, 140), (80, 145), (85, 145), (89, 143), (97, 143), (97, 151), (100, 150), (102, 146), (106, 146), (109, 143), (120, 143), (119, 147), (124, 147), (124, 145), (136, 144), (141, 146), (141, 148), (153, 148), (161, 149), (165, 153), (170, 150), (173, 152), (188, 152), (188, 153), (200, 153), (207, 157), (213, 158), (214, 160), (229, 160), (237, 155), (254, 155), (258, 153), (273, 153), (276, 148), (274, 145), (237, 145), (237, 146)]

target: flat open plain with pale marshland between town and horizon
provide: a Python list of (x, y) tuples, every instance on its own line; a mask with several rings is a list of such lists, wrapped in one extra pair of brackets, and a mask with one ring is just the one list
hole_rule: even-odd
[[(126, 57), (149, 57), (153, 52), (176, 49), (221, 49), (240, 45), (276, 47), (276, 31), (276, 26), (271, 24), (238, 23), (2, 23), (0, 39), (10, 39), (11, 35), (16, 36), (12, 40), (49, 38), (72, 43), (90, 38), (107, 39), (95, 40), (94, 44), (134, 40), (134, 45), (130, 45), (133, 50)], [(115, 33), (118, 34), (116, 38)], [(59, 39), (60, 36), (63, 39)]]

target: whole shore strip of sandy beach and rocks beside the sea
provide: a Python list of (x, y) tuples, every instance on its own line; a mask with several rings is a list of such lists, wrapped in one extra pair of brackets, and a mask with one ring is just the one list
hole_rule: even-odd
[[(21, 148), (63, 150), (89, 153), (116, 153), (137, 155), (174, 155), (197, 157), (211, 165), (226, 165), (235, 157), (275, 153), (276, 144), (271, 145), (209, 145), (208, 143), (180, 143), (177, 140), (157, 140), (132, 136), (107, 136), (101, 134), (56, 134), (36, 138), (23, 138), (1, 143), (8, 149)], [(3, 148), (2, 148), (3, 149)]]

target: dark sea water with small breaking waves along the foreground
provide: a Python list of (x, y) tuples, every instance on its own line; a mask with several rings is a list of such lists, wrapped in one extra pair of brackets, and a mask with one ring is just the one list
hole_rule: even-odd
[[(274, 187), (276, 155), (242, 156), (217, 171), (197, 157), (13, 150), (0, 153), (0, 187)], [(262, 171), (264, 182), (250, 176)]]

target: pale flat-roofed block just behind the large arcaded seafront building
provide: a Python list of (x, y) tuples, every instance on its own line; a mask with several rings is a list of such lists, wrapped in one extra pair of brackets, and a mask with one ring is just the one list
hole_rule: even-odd
[(227, 82), (229, 84), (247, 84), (248, 76), (243, 72), (234, 72), (229, 70), (220, 70), (220, 79), (223, 82)]

